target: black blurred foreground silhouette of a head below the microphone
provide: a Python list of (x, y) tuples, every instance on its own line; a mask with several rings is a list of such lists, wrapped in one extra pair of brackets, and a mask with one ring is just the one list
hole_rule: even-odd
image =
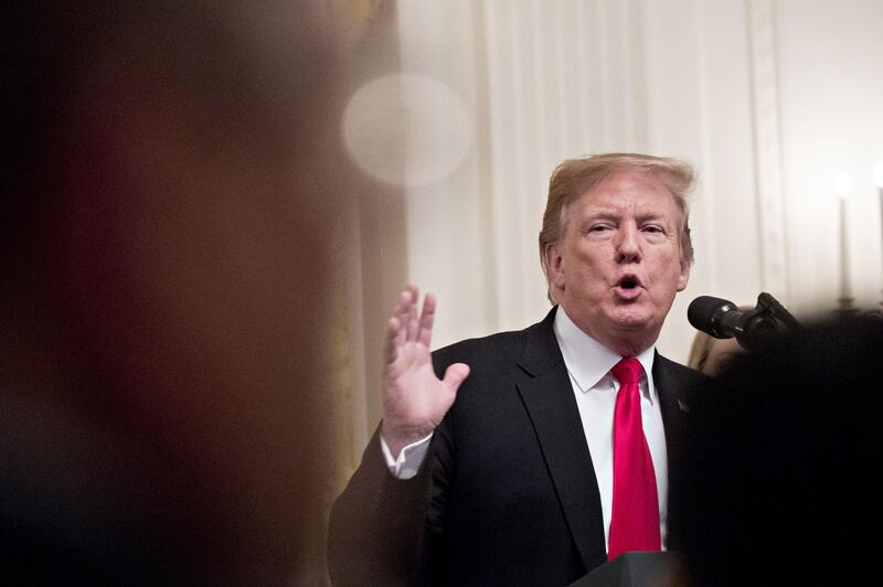
[[(852, 585), (876, 570), (883, 321), (807, 324), (744, 353), (691, 402), (670, 477), (684, 585)], [(819, 536), (855, 536), (819, 556)], [(746, 561), (766, 558), (768, 564)]]

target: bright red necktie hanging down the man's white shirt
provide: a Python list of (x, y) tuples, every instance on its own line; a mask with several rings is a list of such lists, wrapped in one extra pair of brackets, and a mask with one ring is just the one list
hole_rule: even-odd
[(614, 503), (610, 516), (611, 561), (628, 551), (659, 551), (659, 497), (653, 460), (641, 425), (643, 369), (628, 356), (611, 370), (619, 382), (614, 413)]

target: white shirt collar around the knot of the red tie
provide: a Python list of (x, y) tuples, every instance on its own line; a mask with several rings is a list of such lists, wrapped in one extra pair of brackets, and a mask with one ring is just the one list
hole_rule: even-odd
[[(618, 353), (583, 332), (579, 327), (573, 323), (573, 320), (561, 306), (555, 312), (555, 321), (552, 328), (555, 331), (561, 354), (564, 356), (564, 364), (583, 393), (595, 387), (604, 377), (608, 377), (614, 365), (623, 359)], [(653, 403), (656, 402), (656, 388), (653, 386), (655, 356), (656, 346), (650, 346), (636, 356), (643, 367), (641, 392)]]

